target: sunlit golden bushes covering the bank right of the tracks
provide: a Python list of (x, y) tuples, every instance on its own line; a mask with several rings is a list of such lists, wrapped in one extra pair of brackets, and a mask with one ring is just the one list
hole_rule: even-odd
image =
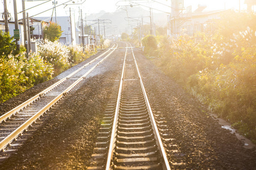
[(256, 142), (256, 28), (246, 22), (252, 18), (225, 15), (214, 34), (163, 37), (157, 60), (166, 74)]

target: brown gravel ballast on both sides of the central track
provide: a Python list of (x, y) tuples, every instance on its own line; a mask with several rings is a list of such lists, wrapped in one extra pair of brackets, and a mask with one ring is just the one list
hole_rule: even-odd
[[(153, 112), (166, 118), (186, 163), (173, 169), (256, 169), (255, 148), (244, 148), (204, 105), (146, 59), (141, 49), (134, 51)], [(81, 88), (62, 99), (16, 154), (0, 163), (0, 169), (86, 169), (124, 53), (125, 49), (117, 49)], [(30, 90), (22, 95), (29, 97)], [(8, 102), (0, 105), (1, 113), (9, 109)]]

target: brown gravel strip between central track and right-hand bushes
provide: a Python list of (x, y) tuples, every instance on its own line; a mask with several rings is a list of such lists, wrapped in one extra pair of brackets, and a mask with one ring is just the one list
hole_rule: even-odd
[(206, 106), (146, 60), (139, 49), (135, 52), (152, 108), (167, 118), (186, 169), (256, 169), (255, 148), (244, 148), (209, 115)]

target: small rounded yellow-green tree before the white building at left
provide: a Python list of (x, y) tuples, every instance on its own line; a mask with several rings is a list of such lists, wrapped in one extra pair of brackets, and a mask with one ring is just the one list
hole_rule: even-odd
[(57, 23), (50, 22), (49, 27), (44, 27), (44, 39), (48, 39), (49, 41), (56, 41), (60, 39), (61, 27)]

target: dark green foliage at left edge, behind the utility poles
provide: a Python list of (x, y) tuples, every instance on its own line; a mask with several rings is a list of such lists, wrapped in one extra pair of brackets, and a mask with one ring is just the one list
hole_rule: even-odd
[(8, 59), (9, 54), (16, 55), (19, 53), (16, 50), (15, 41), (9, 33), (0, 30), (0, 42), (0, 58)]

